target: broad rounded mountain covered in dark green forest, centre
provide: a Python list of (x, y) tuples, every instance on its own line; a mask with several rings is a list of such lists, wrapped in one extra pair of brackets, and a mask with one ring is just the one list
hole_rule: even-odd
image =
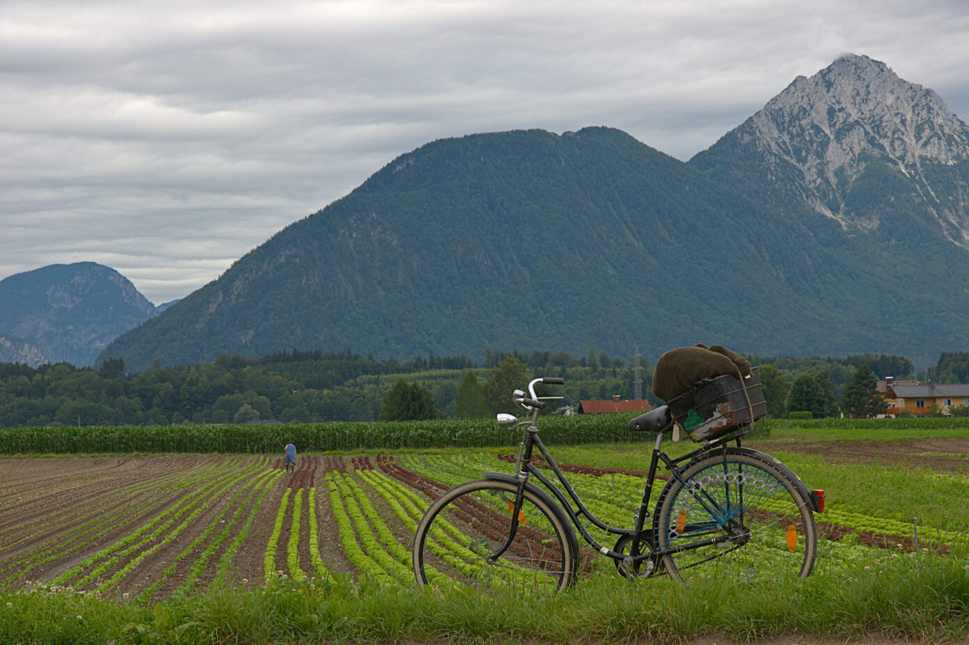
[(882, 301), (883, 269), (842, 253), (843, 237), (617, 130), (443, 139), (281, 230), (101, 358), (141, 370), (286, 348), (639, 346), (648, 358), (696, 342), (851, 353), (887, 338), (905, 350), (926, 331), (965, 338), (952, 311), (922, 324), (920, 293)]

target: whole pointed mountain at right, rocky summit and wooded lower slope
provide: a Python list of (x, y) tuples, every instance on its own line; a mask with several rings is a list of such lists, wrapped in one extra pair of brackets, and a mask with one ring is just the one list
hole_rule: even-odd
[(847, 54), (797, 77), (690, 165), (796, 218), (854, 267), (826, 299), (880, 332), (870, 350), (966, 346), (969, 127), (932, 90)]

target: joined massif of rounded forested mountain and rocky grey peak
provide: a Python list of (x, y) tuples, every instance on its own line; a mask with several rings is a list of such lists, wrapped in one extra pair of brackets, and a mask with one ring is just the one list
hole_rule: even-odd
[(609, 128), (433, 141), (100, 359), (952, 351), (969, 343), (967, 141), (934, 92), (855, 55), (688, 164)]

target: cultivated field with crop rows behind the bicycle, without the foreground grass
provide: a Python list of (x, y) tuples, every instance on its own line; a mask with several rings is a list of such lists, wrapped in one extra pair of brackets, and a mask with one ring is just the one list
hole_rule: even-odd
[[(941, 551), (965, 542), (964, 513), (944, 500), (969, 486), (969, 439), (760, 447), (780, 451), (809, 486), (828, 489), (819, 568), (848, 554), (877, 558), (855, 553), (855, 543), (897, 556), (917, 539)], [(568, 470), (589, 506), (629, 524), (642, 473), (590, 462), (642, 461), (643, 446), (598, 448), (595, 458), (596, 449), (570, 450), (585, 460)], [(501, 449), (313, 454), (300, 456), (295, 473), (276, 455), (0, 459), (0, 584), (144, 601), (330, 574), (407, 586), (411, 541), (429, 501), (484, 471), (509, 472), (511, 459)], [(884, 490), (860, 495), (853, 476), (878, 477)], [(582, 560), (609, 565), (589, 549)]]

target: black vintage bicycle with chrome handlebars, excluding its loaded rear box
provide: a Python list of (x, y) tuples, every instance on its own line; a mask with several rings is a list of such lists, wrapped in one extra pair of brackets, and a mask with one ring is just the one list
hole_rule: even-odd
[[(634, 526), (624, 529), (601, 521), (582, 503), (539, 438), (539, 411), (547, 399), (561, 398), (537, 396), (539, 383), (565, 381), (535, 379), (528, 397), (516, 390), (513, 400), (526, 412), (523, 420), (498, 415), (500, 424), (524, 428), (516, 475), (485, 473), (453, 487), (424, 513), (413, 546), (419, 586), (557, 593), (578, 576), (574, 527), (628, 579), (667, 574), (682, 582), (705, 575), (756, 581), (811, 573), (814, 512), (824, 510), (824, 491), (808, 491), (780, 461), (740, 445), (756, 420), (753, 409), (748, 422), (677, 458), (661, 447), (664, 433), (679, 422), (670, 406), (630, 421), (631, 429), (655, 432), (656, 442)], [(560, 486), (533, 463), (535, 447)], [(650, 514), (660, 463), (670, 476)], [(615, 544), (600, 543), (583, 521), (617, 536)]]

